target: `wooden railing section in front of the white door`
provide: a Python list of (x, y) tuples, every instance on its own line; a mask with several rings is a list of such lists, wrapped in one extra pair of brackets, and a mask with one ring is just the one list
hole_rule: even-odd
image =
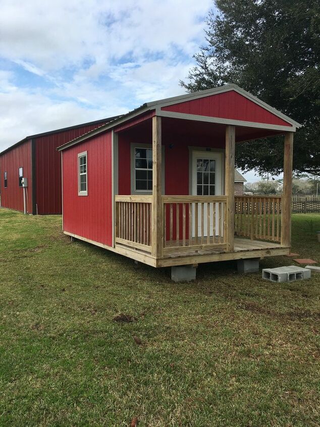
[(163, 254), (226, 248), (226, 196), (163, 196)]

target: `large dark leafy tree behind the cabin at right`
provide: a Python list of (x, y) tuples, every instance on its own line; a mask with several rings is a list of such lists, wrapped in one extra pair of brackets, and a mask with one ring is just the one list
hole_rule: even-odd
[[(196, 54), (188, 91), (237, 83), (303, 126), (293, 168), (320, 174), (320, 2), (216, 0), (206, 45)], [(236, 145), (236, 166), (259, 174), (282, 171), (283, 137)]]

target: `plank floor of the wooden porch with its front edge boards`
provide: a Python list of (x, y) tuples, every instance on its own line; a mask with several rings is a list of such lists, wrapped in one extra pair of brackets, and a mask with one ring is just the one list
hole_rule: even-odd
[[(155, 260), (145, 251), (129, 248), (124, 245), (117, 244), (115, 252), (122, 253), (125, 256), (134, 258), (137, 261), (144, 262), (156, 267), (165, 267), (172, 265), (193, 264), (202, 262), (217, 262), (227, 261), (242, 258), (261, 258), (275, 255), (288, 255), (290, 247), (281, 246), (279, 243), (262, 242), (258, 240), (249, 240), (239, 237), (234, 238), (234, 251), (225, 252), (220, 249), (199, 249), (196, 251), (181, 251), (171, 252), (161, 259)], [(152, 260), (152, 261), (151, 261)], [(148, 262), (149, 261), (149, 262)]]

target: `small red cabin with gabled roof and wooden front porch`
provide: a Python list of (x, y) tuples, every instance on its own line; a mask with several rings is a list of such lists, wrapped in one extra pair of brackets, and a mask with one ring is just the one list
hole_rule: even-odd
[[(144, 104), (59, 148), (64, 232), (155, 267), (289, 254), (299, 126), (233, 84)], [(235, 144), (276, 134), (283, 197), (235, 197)]]

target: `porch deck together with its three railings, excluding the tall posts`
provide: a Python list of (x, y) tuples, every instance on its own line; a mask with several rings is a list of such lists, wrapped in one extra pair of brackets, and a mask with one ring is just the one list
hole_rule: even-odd
[(281, 197), (235, 198), (229, 252), (226, 204), (226, 196), (162, 196), (162, 252), (155, 258), (152, 196), (116, 196), (116, 251), (157, 267), (289, 254), (281, 243)]

